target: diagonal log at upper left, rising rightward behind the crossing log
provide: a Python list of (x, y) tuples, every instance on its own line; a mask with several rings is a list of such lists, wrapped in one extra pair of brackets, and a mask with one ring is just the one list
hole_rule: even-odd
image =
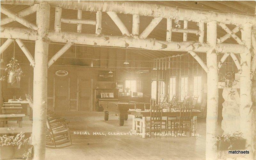
[[(36, 12), (37, 9), (38, 9), (38, 4), (34, 4), (34, 5), (32, 5), (32, 6), (28, 7), (28, 8), (26, 8), (26, 9), (24, 9), (24, 10), (22, 10), (22, 11), (19, 11), (19, 12), (15, 13), (15, 14), (19, 15), (20, 17), (26, 17), (26, 16), (28, 16), (29, 14), (32, 14), (32, 13)], [(0, 24), (1, 24), (1, 26), (3, 26), (3, 25), (5, 25), (5, 24), (11, 23), (11, 22), (13, 22), (13, 21), (15, 21), (15, 20), (12, 19), (12, 18), (10, 18), (10, 17), (6, 17), (6, 18), (3, 18), (3, 19), (1, 20), (1, 23), (0, 23)]]

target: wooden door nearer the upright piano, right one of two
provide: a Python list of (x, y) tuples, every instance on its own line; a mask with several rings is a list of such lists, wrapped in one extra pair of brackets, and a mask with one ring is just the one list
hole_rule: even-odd
[(79, 79), (79, 110), (91, 110), (91, 79)]

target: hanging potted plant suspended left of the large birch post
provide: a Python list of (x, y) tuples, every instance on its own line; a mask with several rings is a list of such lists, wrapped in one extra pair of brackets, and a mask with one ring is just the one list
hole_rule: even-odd
[(8, 72), (7, 82), (13, 84), (17, 81), (20, 81), (20, 78), (23, 76), (23, 72), (20, 68), (18, 60), (15, 60), (15, 58), (12, 57), (12, 59), (6, 66), (7, 68), (5, 68), (5, 71)]

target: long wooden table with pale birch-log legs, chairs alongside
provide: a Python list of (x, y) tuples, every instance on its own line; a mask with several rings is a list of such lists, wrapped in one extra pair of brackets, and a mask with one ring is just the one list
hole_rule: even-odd
[[(129, 110), (129, 114), (132, 115), (132, 132), (137, 132), (136, 130), (136, 123), (135, 118), (142, 117), (142, 138), (146, 138), (146, 118), (150, 117), (150, 111), (136, 111), (136, 110)], [(201, 113), (201, 111), (198, 110), (192, 110), (191, 116), (192, 116), (192, 136), (196, 135), (196, 117)], [(180, 111), (174, 111), (174, 112), (163, 112), (163, 117), (177, 117), (180, 116)]]

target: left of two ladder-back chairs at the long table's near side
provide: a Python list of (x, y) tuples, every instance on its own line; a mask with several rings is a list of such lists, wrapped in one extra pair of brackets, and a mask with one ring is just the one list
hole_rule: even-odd
[[(147, 122), (147, 129), (149, 130), (149, 135), (151, 135), (151, 132), (162, 133), (163, 125), (164, 125), (164, 129), (167, 128), (166, 120), (162, 119), (162, 112), (163, 112), (163, 108), (161, 108), (160, 106), (152, 107), (150, 109), (150, 119), (149, 119), (149, 122)], [(149, 138), (150, 137), (151, 136), (149, 136)]]

